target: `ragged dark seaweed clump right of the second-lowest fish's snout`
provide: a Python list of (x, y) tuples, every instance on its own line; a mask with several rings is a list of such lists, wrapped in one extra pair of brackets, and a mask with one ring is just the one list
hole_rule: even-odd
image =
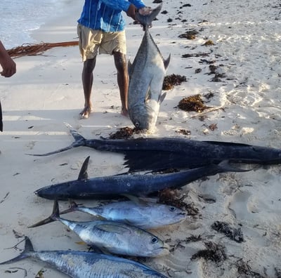
[(220, 263), (223, 260), (226, 260), (226, 252), (224, 247), (215, 244), (214, 242), (206, 242), (206, 249), (200, 250), (194, 255), (192, 255), (191, 260), (196, 260), (197, 258), (204, 258), (205, 260), (211, 260), (215, 263)]

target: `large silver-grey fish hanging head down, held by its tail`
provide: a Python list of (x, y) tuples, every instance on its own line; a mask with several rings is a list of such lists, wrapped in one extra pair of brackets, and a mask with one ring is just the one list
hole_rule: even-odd
[(164, 60), (155, 41), (148, 31), (152, 20), (156, 18), (162, 6), (159, 5), (149, 15), (136, 13), (136, 19), (141, 22), (145, 34), (133, 64), (129, 62), (129, 117), (137, 129), (152, 129), (157, 121), (159, 106), (164, 100), (162, 85), (170, 56)]

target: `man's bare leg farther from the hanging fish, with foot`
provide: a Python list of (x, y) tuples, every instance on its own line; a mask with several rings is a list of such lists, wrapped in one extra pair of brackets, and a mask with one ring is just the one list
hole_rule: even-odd
[(89, 114), (93, 112), (91, 102), (91, 92), (93, 86), (93, 69), (96, 66), (96, 57), (93, 59), (86, 60), (84, 62), (82, 71), (82, 84), (84, 90), (85, 104), (84, 109), (80, 112), (81, 118), (87, 119)]

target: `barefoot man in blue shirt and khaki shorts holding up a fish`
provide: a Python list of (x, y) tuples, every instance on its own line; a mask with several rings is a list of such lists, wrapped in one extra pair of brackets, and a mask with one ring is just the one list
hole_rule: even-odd
[(137, 10), (143, 15), (151, 11), (141, 0), (85, 0), (77, 26), (79, 49), (84, 62), (82, 84), (85, 104), (84, 109), (80, 112), (82, 119), (88, 118), (89, 114), (93, 112), (91, 90), (98, 51), (114, 57), (122, 103), (121, 114), (128, 115), (129, 76), (126, 65), (125, 22), (122, 11), (135, 19)]

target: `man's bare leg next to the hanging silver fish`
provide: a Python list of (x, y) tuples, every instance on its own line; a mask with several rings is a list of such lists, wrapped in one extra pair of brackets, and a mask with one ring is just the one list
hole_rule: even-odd
[(128, 116), (128, 88), (129, 75), (126, 64), (126, 55), (117, 51), (113, 52), (115, 59), (115, 67), (117, 69), (117, 83), (120, 91), (120, 98), (122, 104), (121, 114)]

